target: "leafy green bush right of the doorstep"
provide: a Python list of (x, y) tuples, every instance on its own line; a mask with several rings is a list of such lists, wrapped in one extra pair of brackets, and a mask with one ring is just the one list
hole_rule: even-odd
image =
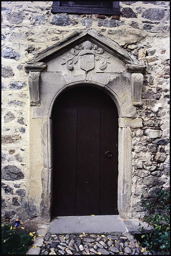
[[(143, 233), (144, 228), (138, 229), (141, 231), (141, 238), (137, 237), (146, 250), (153, 254), (166, 254), (170, 246), (170, 204), (169, 204), (169, 190), (161, 190), (156, 198), (143, 199), (142, 205), (146, 214), (141, 221), (147, 222), (152, 226), (153, 231), (150, 233)], [(141, 225), (141, 224), (140, 224)]]

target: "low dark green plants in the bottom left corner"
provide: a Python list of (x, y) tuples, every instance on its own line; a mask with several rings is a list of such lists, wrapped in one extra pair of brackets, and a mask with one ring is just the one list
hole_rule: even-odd
[(14, 228), (8, 224), (1, 225), (2, 255), (26, 255), (26, 252), (33, 241), (33, 235), (30, 235), (24, 229), (20, 227)]

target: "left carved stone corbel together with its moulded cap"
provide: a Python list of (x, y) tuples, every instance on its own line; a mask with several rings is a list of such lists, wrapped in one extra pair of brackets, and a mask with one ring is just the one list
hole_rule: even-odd
[(29, 72), (30, 106), (40, 106), (40, 74), (46, 68), (44, 62), (27, 62), (26, 72)]

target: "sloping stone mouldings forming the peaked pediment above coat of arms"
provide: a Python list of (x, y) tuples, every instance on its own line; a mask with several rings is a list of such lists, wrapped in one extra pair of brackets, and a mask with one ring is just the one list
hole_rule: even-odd
[(65, 39), (39, 52), (36, 56), (34, 56), (34, 58), (30, 59), (29, 62), (47, 62), (61, 55), (62, 53), (67, 52), (76, 45), (83, 43), (84, 41), (90, 41), (96, 44), (127, 64), (133, 63), (136, 59), (133, 55), (127, 53), (119, 46), (118, 43), (109, 37), (106, 37), (94, 29), (89, 29), (86, 31), (73, 32)]

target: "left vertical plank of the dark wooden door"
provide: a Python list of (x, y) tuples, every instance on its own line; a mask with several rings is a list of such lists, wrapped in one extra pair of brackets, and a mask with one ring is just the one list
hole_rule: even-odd
[(55, 215), (72, 216), (75, 215), (77, 110), (59, 109), (54, 129)]

